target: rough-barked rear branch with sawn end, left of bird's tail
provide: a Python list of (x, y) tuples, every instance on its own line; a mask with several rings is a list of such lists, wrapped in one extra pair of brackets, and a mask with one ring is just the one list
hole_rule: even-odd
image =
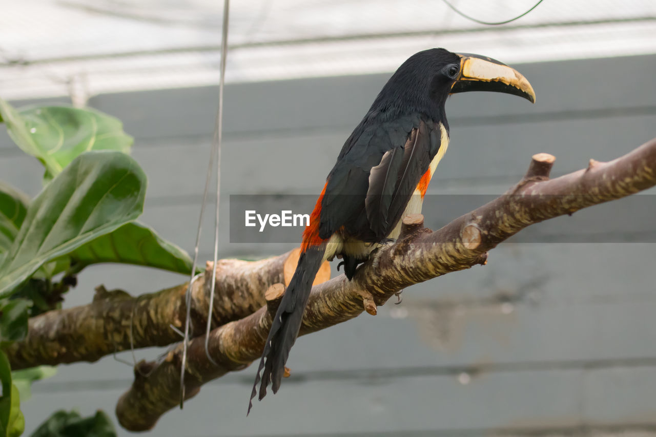
[[(213, 325), (252, 314), (264, 304), (270, 285), (283, 282), (292, 252), (257, 261), (224, 259), (216, 271)], [(298, 255), (295, 255), (298, 259)], [(209, 308), (211, 263), (192, 288), (192, 330), (205, 332)], [(329, 274), (329, 272), (328, 272)], [(180, 341), (170, 325), (182, 329), (188, 283), (138, 297), (122, 290), (96, 289), (91, 304), (49, 311), (30, 319), (27, 337), (5, 351), (14, 370), (35, 365), (94, 362), (134, 348), (166, 346)], [(131, 342), (132, 340), (132, 342)]]

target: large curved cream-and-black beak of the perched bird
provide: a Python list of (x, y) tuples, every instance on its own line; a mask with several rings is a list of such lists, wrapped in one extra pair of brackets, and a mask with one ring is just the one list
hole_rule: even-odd
[(472, 53), (458, 53), (460, 74), (451, 94), (465, 91), (495, 91), (514, 94), (535, 103), (535, 91), (529, 81), (514, 68), (498, 60)]

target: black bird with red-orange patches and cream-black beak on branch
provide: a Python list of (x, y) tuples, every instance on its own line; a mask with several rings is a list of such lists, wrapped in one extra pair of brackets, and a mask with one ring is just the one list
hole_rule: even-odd
[(420, 213), (428, 182), (449, 145), (445, 102), (449, 94), (464, 91), (497, 91), (535, 102), (523, 75), (486, 56), (430, 49), (403, 62), (344, 143), (310, 215), (296, 271), (264, 345), (251, 402), (258, 383), (260, 400), (269, 383), (277, 392), (321, 263), (341, 255), (351, 280), (377, 243), (398, 237), (405, 215)]

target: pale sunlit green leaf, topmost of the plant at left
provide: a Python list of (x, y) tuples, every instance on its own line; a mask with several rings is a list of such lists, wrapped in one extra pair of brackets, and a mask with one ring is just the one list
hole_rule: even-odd
[(46, 167), (45, 179), (56, 176), (75, 157), (89, 150), (129, 153), (133, 137), (112, 115), (91, 108), (31, 106), (15, 110), (0, 100), (11, 138)]

